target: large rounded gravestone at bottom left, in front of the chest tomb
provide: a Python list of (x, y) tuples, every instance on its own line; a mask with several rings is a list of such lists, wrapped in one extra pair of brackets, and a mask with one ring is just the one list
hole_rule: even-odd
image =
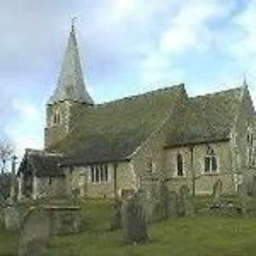
[(20, 229), (18, 256), (49, 255), (49, 240), (49, 213), (42, 208), (31, 208)]

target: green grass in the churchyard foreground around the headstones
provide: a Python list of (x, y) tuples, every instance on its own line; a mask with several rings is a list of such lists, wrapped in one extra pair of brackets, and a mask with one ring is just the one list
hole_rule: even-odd
[[(148, 226), (147, 245), (129, 245), (121, 230), (109, 231), (109, 205), (83, 205), (84, 230), (77, 235), (56, 236), (49, 255), (256, 255), (256, 218), (196, 216), (156, 222)], [(0, 231), (0, 255), (15, 255), (15, 234)]]

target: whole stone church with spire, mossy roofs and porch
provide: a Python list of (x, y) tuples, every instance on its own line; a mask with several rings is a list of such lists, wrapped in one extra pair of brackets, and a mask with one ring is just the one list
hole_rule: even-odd
[(184, 84), (96, 104), (86, 91), (72, 26), (52, 96), (44, 150), (27, 149), (19, 198), (113, 198), (161, 182), (178, 191), (236, 193), (254, 177), (255, 112), (246, 83), (189, 97)]

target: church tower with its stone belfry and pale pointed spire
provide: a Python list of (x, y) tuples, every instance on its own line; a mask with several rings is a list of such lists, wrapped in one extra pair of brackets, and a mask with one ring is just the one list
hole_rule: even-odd
[(46, 104), (44, 147), (49, 148), (65, 137), (79, 119), (81, 110), (93, 104), (91, 96), (85, 89), (72, 22), (57, 87)]

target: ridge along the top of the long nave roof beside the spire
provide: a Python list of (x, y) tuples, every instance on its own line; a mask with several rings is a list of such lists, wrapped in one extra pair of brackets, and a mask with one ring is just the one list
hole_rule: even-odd
[(175, 90), (175, 89), (178, 89), (178, 88), (180, 88), (180, 90), (184, 89), (184, 84), (183, 83), (175, 84), (175, 85), (172, 85), (172, 86), (166, 86), (164, 88), (158, 88), (158, 89), (153, 90), (153, 91), (148, 91), (148, 92), (143, 92), (143, 93), (140, 93), (140, 94), (126, 96), (126, 97), (123, 97), (123, 98), (120, 98), (120, 99), (116, 99), (116, 100), (110, 100), (110, 101), (107, 101), (107, 102), (96, 104), (96, 105), (94, 105), (94, 107), (95, 108), (97, 108), (97, 107), (106, 107), (106, 106), (109, 106), (111, 104), (116, 104), (116, 103), (118, 103), (120, 101), (137, 100), (139, 98), (148, 97), (148, 96), (154, 95), (154, 94), (159, 93), (159, 92), (172, 91), (172, 90)]

